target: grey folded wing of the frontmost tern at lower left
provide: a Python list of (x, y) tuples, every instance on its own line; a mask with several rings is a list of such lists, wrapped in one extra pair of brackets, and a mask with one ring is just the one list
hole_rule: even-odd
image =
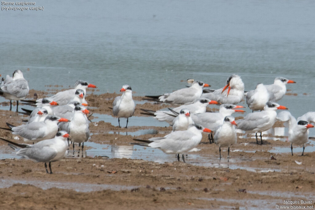
[(49, 162), (57, 155), (57, 152), (49, 146), (43, 146), (23, 148), (16, 154), (20, 156), (27, 156), (37, 162)]

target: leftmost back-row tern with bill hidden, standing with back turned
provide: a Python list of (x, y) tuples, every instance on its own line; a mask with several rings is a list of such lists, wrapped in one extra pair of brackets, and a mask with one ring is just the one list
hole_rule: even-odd
[(28, 83), (20, 70), (15, 70), (13, 77), (7, 75), (5, 80), (2, 78), (0, 84), (0, 94), (3, 94), (6, 99), (10, 99), (10, 111), (12, 110), (12, 100), (16, 100), (16, 111), (18, 111), (19, 100), (25, 99), (29, 90)]

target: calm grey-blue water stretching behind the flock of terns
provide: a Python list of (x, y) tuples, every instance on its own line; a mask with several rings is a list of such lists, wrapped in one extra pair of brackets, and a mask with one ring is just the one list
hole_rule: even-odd
[(98, 86), (96, 94), (129, 84), (135, 95), (157, 95), (184, 88), (180, 80), (187, 78), (221, 88), (237, 73), (252, 90), (283, 76), (297, 82), (287, 88), (298, 95), (279, 104), (296, 117), (315, 111), (314, 1), (40, 0), (36, 6), (44, 10), (0, 11), (0, 74), (21, 69), (32, 89), (85, 79)]

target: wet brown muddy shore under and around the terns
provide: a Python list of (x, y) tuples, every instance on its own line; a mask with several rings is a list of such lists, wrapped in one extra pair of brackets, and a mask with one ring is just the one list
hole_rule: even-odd
[[(49, 94), (36, 92), (38, 97)], [(88, 92), (91, 113), (111, 115), (112, 100), (118, 94)], [(144, 97), (134, 97), (142, 100)], [(3, 106), (8, 103), (3, 102)], [(23, 106), (20, 106), (23, 107)], [(171, 107), (167, 104), (149, 102), (137, 104), (135, 116), (140, 108), (159, 110)], [(13, 107), (15, 110), (15, 107)], [(208, 111), (215, 108), (209, 108)], [(16, 112), (0, 110), (2, 120), (14, 125), (22, 124), (23, 116)], [(26, 117), (26, 116), (24, 116)], [(92, 118), (94, 116), (92, 115)], [(132, 120), (133, 118), (130, 118)], [(97, 118), (94, 118), (94, 121)], [(106, 145), (130, 145), (134, 136), (118, 132), (134, 132), (154, 129), (156, 134), (145, 134), (137, 138), (147, 139), (163, 136), (171, 127), (131, 126), (118, 128), (100, 121), (97, 126), (90, 123), (93, 134), (89, 141)], [(109, 133), (114, 132), (114, 133)], [(0, 136), (13, 139), (10, 131), (0, 129)], [(279, 137), (280, 139), (280, 137)], [(19, 140), (15, 140), (20, 142)], [(312, 145), (306, 145), (312, 147)], [(241, 138), (233, 145), (231, 160), (226, 160), (227, 149), (219, 162), (219, 149), (209, 144), (203, 135), (200, 151), (192, 152), (187, 163), (157, 163), (126, 158), (67, 157), (52, 163), (53, 174), (47, 174), (43, 163), (25, 159), (3, 159), (0, 161), (1, 209), (275, 209), (284, 201), (315, 201), (314, 172), (315, 152), (304, 156), (295, 152), (272, 153), (274, 148), (289, 148), (289, 142), (266, 137), (263, 145), (256, 145), (253, 138)], [(0, 149), (9, 151), (9, 146), (0, 141)], [(76, 149), (78, 149), (76, 147)], [(85, 148), (89, 149), (89, 148)], [(143, 148), (145, 150), (145, 148)], [(298, 149), (295, 149), (297, 151)], [(300, 150), (298, 150), (300, 151)], [(198, 155), (207, 160), (204, 166), (196, 164), (192, 157)], [(235, 168), (235, 169), (234, 169)], [(310, 205), (313, 204), (294, 204)], [(290, 204), (287, 204), (290, 205)]]

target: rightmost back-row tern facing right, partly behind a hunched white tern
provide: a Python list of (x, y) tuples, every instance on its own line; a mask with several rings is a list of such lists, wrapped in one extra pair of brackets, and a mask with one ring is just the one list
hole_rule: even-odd
[(284, 77), (276, 77), (273, 84), (266, 85), (266, 88), (269, 92), (269, 100), (270, 101), (278, 101), (282, 99), (285, 92), (287, 91), (286, 84), (287, 83), (296, 83), (293, 80), (288, 80)]

